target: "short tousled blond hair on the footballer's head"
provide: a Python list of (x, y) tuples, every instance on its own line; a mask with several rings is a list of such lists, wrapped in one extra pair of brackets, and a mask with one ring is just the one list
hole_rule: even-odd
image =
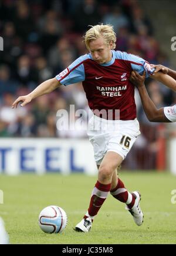
[(110, 42), (113, 42), (112, 49), (116, 48), (116, 33), (114, 32), (113, 26), (100, 24), (91, 26), (91, 28), (83, 36), (87, 49), (89, 49), (89, 44), (91, 41), (101, 37), (104, 38), (107, 45), (109, 45)]

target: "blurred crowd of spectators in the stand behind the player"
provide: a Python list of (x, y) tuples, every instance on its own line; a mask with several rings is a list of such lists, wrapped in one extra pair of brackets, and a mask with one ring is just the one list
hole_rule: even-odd
[[(4, 0), (0, 3), (0, 17), (0, 35), (4, 39), (4, 51), (0, 52), (0, 137), (86, 137), (86, 131), (56, 129), (57, 110), (69, 110), (70, 104), (87, 109), (81, 84), (59, 88), (25, 108), (14, 110), (11, 104), (87, 52), (82, 40), (87, 25), (112, 24), (117, 34), (116, 49), (139, 55), (152, 64), (170, 66), (140, 1)], [(153, 79), (146, 84), (158, 108), (176, 103), (170, 89)], [(142, 135), (135, 147), (138, 154), (143, 154), (141, 148), (145, 154), (148, 151), (148, 168), (149, 158), (151, 165), (155, 162), (156, 127), (160, 124), (148, 122), (138, 95), (136, 103)]]

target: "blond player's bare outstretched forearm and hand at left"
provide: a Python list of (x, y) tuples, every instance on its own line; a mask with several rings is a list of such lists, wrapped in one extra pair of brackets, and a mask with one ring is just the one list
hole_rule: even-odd
[(54, 91), (61, 84), (56, 78), (48, 79), (42, 82), (38, 87), (36, 87), (30, 94), (18, 97), (12, 104), (12, 108), (17, 108), (18, 103), (22, 102), (21, 107), (25, 106), (32, 99), (35, 99), (41, 95), (49, 94), (49, 92)]

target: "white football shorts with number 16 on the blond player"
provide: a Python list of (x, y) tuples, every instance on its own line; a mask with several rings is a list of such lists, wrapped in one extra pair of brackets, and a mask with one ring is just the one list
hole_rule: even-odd
[(140, 135), (140, 127), (137, 119), (106, 120), (93, 115), (89, 120), (87, 135), (93, 145), (96, 164), (100, 165), (108, 151), (116, 152), (123, 159), (126, 158)]

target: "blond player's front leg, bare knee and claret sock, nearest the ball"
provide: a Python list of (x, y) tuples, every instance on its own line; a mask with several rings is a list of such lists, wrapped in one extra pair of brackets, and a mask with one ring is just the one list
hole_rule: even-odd
[(116, 152), (107, 152), (100, 164), (98, 179), (93, 188), (88, 211), (82, 221), (76, 225), (76, 231), (88, 232), (92, 226), (94, 216), (99, 212), (111, 189), (111, 181), (116, 168), (123, 158)]

